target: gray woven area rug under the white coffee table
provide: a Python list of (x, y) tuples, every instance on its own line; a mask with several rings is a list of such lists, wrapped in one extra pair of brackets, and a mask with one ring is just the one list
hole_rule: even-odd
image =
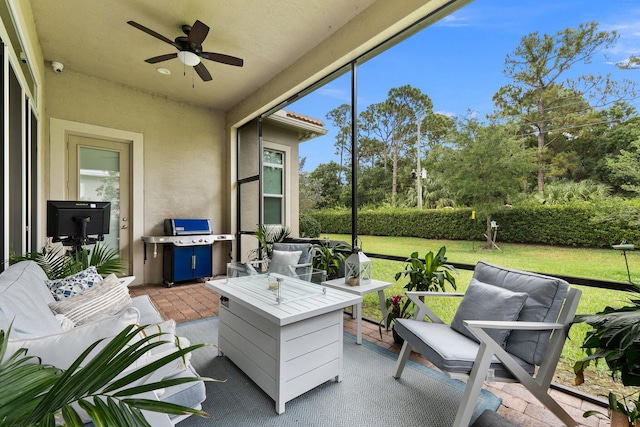
[[(218, 339), (216, 317), (178, 325), (178, 334), (192, 343)], [(392, 373), (397, 355), (344, 334), (344, 373), (286, 403), (275, 412), (274, 401), (215, 347), (194, 352), (192, 363), (201, 376), (227, 379), (207, 383), (203, 409), (211, 418), (189, 417), (191, 426), (450, 426), (464, 383), (409, 361), (402, 378)], [(483, 390), (473, 420), (483, 410), (496, 410), (501, 400)]]

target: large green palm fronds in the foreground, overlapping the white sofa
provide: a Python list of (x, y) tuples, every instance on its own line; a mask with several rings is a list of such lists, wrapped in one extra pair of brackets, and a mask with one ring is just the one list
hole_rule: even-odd
[[(90, 346), (67, 370), (40, 363), (37, 356), (22, 348), (6, 355), (8, 330), (0, 330), (0, 424), (3, 426), (82, 425), (75, 404), (78, 404), (96, 425), (148, 426), (142, 410), (166, 414), (196, 414), (208, 416), (201, 410), (169, 402), (136, 397), (141, 393), (160, 390), (191, 381), (208, 378), (169, 379), (153, 384), (135, 385), (163, 366), (205, 346), (196, 344), (157, 359), (136, 365), (149, 350), (168, 343), (159, 339), (165, 333), (155, 333), (140, 339), (144, 326), (130, 325), (113, 338), (91, 360), (86, 361)], [(155, 341), (154, 341), (155, 340)], [(83, 366), (81, 366), (84, 363)], [(131, 366), (139, 366), (121, 376)], [(74, 404), (74, 406), (72, 406)]]

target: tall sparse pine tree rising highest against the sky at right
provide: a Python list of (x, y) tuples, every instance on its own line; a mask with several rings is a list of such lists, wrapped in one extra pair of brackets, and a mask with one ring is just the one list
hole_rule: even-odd
[(544, 189), (549, 163), (545, 150), (567, 133), (578, 136), (599, 120), (595, 108), (634, 97), (631, 81), (621, 84), (607, 76), (565, 77), (576, 63), (589, 63), (595, 54), (611, 48), (615, 31), (598, 31), (598, 24), (580, 24), (555, 36), (530, 33), (505, 59), (504, 73), (513, 83), (503, 86), (493, 99), (499, 113), (521, 121), (537, 137), (537, 186)]

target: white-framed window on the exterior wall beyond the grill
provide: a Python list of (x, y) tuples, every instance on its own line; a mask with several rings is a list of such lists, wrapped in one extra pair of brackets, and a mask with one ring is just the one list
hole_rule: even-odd
[(283, 224), (284, 152), (265, 148), (263, 161), (264, 224)]

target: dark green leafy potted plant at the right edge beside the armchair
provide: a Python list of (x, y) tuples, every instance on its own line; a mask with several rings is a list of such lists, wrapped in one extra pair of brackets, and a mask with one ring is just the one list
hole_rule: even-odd
[[(630, 303), (622, 307), (608, 306), (596, 314), (576, 316), (575, 322), (592, 327), (582, 344), (587, 356), (574, 364), (576, 385), (584, 382), (584, 370), (592, 361), (604, 360), (614, 380), (621, 380), (624, 386), (640, 386), (640, 299), (630, 299)], [(638, 399), (632, 406), (626, 403), (626, 397), (621, 402), (609, 393), (609, 411), (612, 426), (618, 417), (626, 420), (626, 425), (639, 424)], [(585, 412), (584, 416), (594, 413)]]

